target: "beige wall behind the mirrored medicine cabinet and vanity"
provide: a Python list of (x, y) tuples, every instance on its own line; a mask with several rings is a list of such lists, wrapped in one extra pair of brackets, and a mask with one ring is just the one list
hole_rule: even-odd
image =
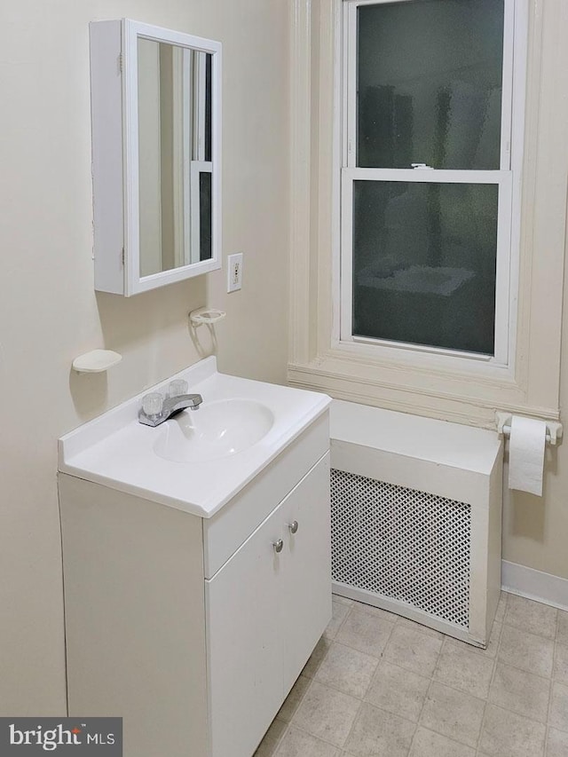
[[(154, 23), (224, 44), (225, 271), (138, 295), (95, 295), (88, 23)], [(209, 354), (188, 311), (227, 311), (225, 372), (282, 382), (288, 350), (287, 0), (6, 0), (0, 13), (0, 714), (65, 712), (57, 438)], [(201, 333), (203, 332), (203, 333)], [(108, 375), (72, 359), (122, 352)]]

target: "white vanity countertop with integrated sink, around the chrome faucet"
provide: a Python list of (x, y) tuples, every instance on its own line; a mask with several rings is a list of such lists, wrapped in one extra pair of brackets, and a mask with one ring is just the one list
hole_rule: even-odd
[[(201, 394), (152, 428), (138, 422), (148, 391), (184, 379)], [(206, 358), (59, 439), (59, 470), (201, 517), (214, 516), (331, 402), (325, 394), (219, 374)]]

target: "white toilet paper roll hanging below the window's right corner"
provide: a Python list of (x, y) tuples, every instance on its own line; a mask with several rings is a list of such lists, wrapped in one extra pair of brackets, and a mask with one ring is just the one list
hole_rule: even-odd
[(542, 496), (547, 424), (513, 415), (509, 442), (509, 489)]

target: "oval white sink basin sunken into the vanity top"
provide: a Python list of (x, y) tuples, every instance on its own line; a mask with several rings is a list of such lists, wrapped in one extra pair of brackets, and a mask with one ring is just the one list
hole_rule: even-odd
[(271, 410), (251, 399), (203, 401), (157, 430), (154, 453), (172, 462), (205, 462), (240, 453), (272, 429)]

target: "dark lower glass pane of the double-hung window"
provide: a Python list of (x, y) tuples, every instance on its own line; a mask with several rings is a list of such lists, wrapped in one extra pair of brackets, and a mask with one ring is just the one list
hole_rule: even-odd
[(497, 185), (353, 182), (353, 335), (493, 355)]

